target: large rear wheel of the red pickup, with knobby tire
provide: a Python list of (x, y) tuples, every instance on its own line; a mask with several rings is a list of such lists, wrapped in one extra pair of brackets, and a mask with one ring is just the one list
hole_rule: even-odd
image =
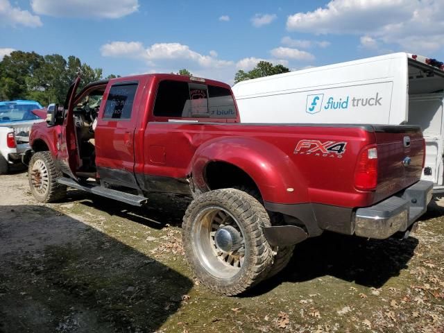
[(273, 251), (262, 227), (270, 225), (264, 206), (238, 189), (217, 189), (195, 198), (183, 219), (182, 238), (198, 280), (227, 296), (264, 280)]

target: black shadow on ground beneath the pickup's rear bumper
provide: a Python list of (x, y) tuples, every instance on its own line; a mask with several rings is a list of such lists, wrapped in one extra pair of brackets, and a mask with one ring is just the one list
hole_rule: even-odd
[(356, 284), (380, 288), (408, 263), (418, 239), (367, 240), (325, 232), (298, 244), (284, 270), (269, 282), (259, 284), (250, 295), (260, 295), (282, 282), (306, 282), (330, 275)]

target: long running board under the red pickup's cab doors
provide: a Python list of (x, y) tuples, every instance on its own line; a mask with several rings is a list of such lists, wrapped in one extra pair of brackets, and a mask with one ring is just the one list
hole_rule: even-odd
[(135, 196), (134, 194), (117, 191), (115, 189), (107, 189), (106, 187), (101, 187), (100, 185), (79, 184), (78, 182), (72, 180), (71, 178), (58, 178), (57, 182), (62, 185), (74, 187), (74, 189), (81, 189), (82, 191), (96, 194), (98, 196), (104, 196), (105, 198), (121, 201), (122, 203), (129, 203), (130, 205), (133, 206), (140, 207), (148, 200), (144, 196)]

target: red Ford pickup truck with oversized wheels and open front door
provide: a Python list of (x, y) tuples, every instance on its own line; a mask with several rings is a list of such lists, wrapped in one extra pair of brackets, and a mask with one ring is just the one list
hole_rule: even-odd
[(275, 275), (324, 230), (407, 237), (432, 196), (415, 126), (243, 124), (214, 80), (128, 76), (77, 93), (79, 81), (32, 128), (33, 195), (74, 187), (138, 206), (153, 192), (193, 196), (185, 253), (217, 293)]

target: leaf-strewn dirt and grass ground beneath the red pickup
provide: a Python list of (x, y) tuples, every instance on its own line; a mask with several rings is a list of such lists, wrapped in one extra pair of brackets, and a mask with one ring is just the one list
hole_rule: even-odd
[(444, 332), (444, 200), (404, 241), (309, 239), (240, 298), (194, 281), (186, 205), (76, 190), (42, 205), (26, 173), (0, 176), (0, 332)]

